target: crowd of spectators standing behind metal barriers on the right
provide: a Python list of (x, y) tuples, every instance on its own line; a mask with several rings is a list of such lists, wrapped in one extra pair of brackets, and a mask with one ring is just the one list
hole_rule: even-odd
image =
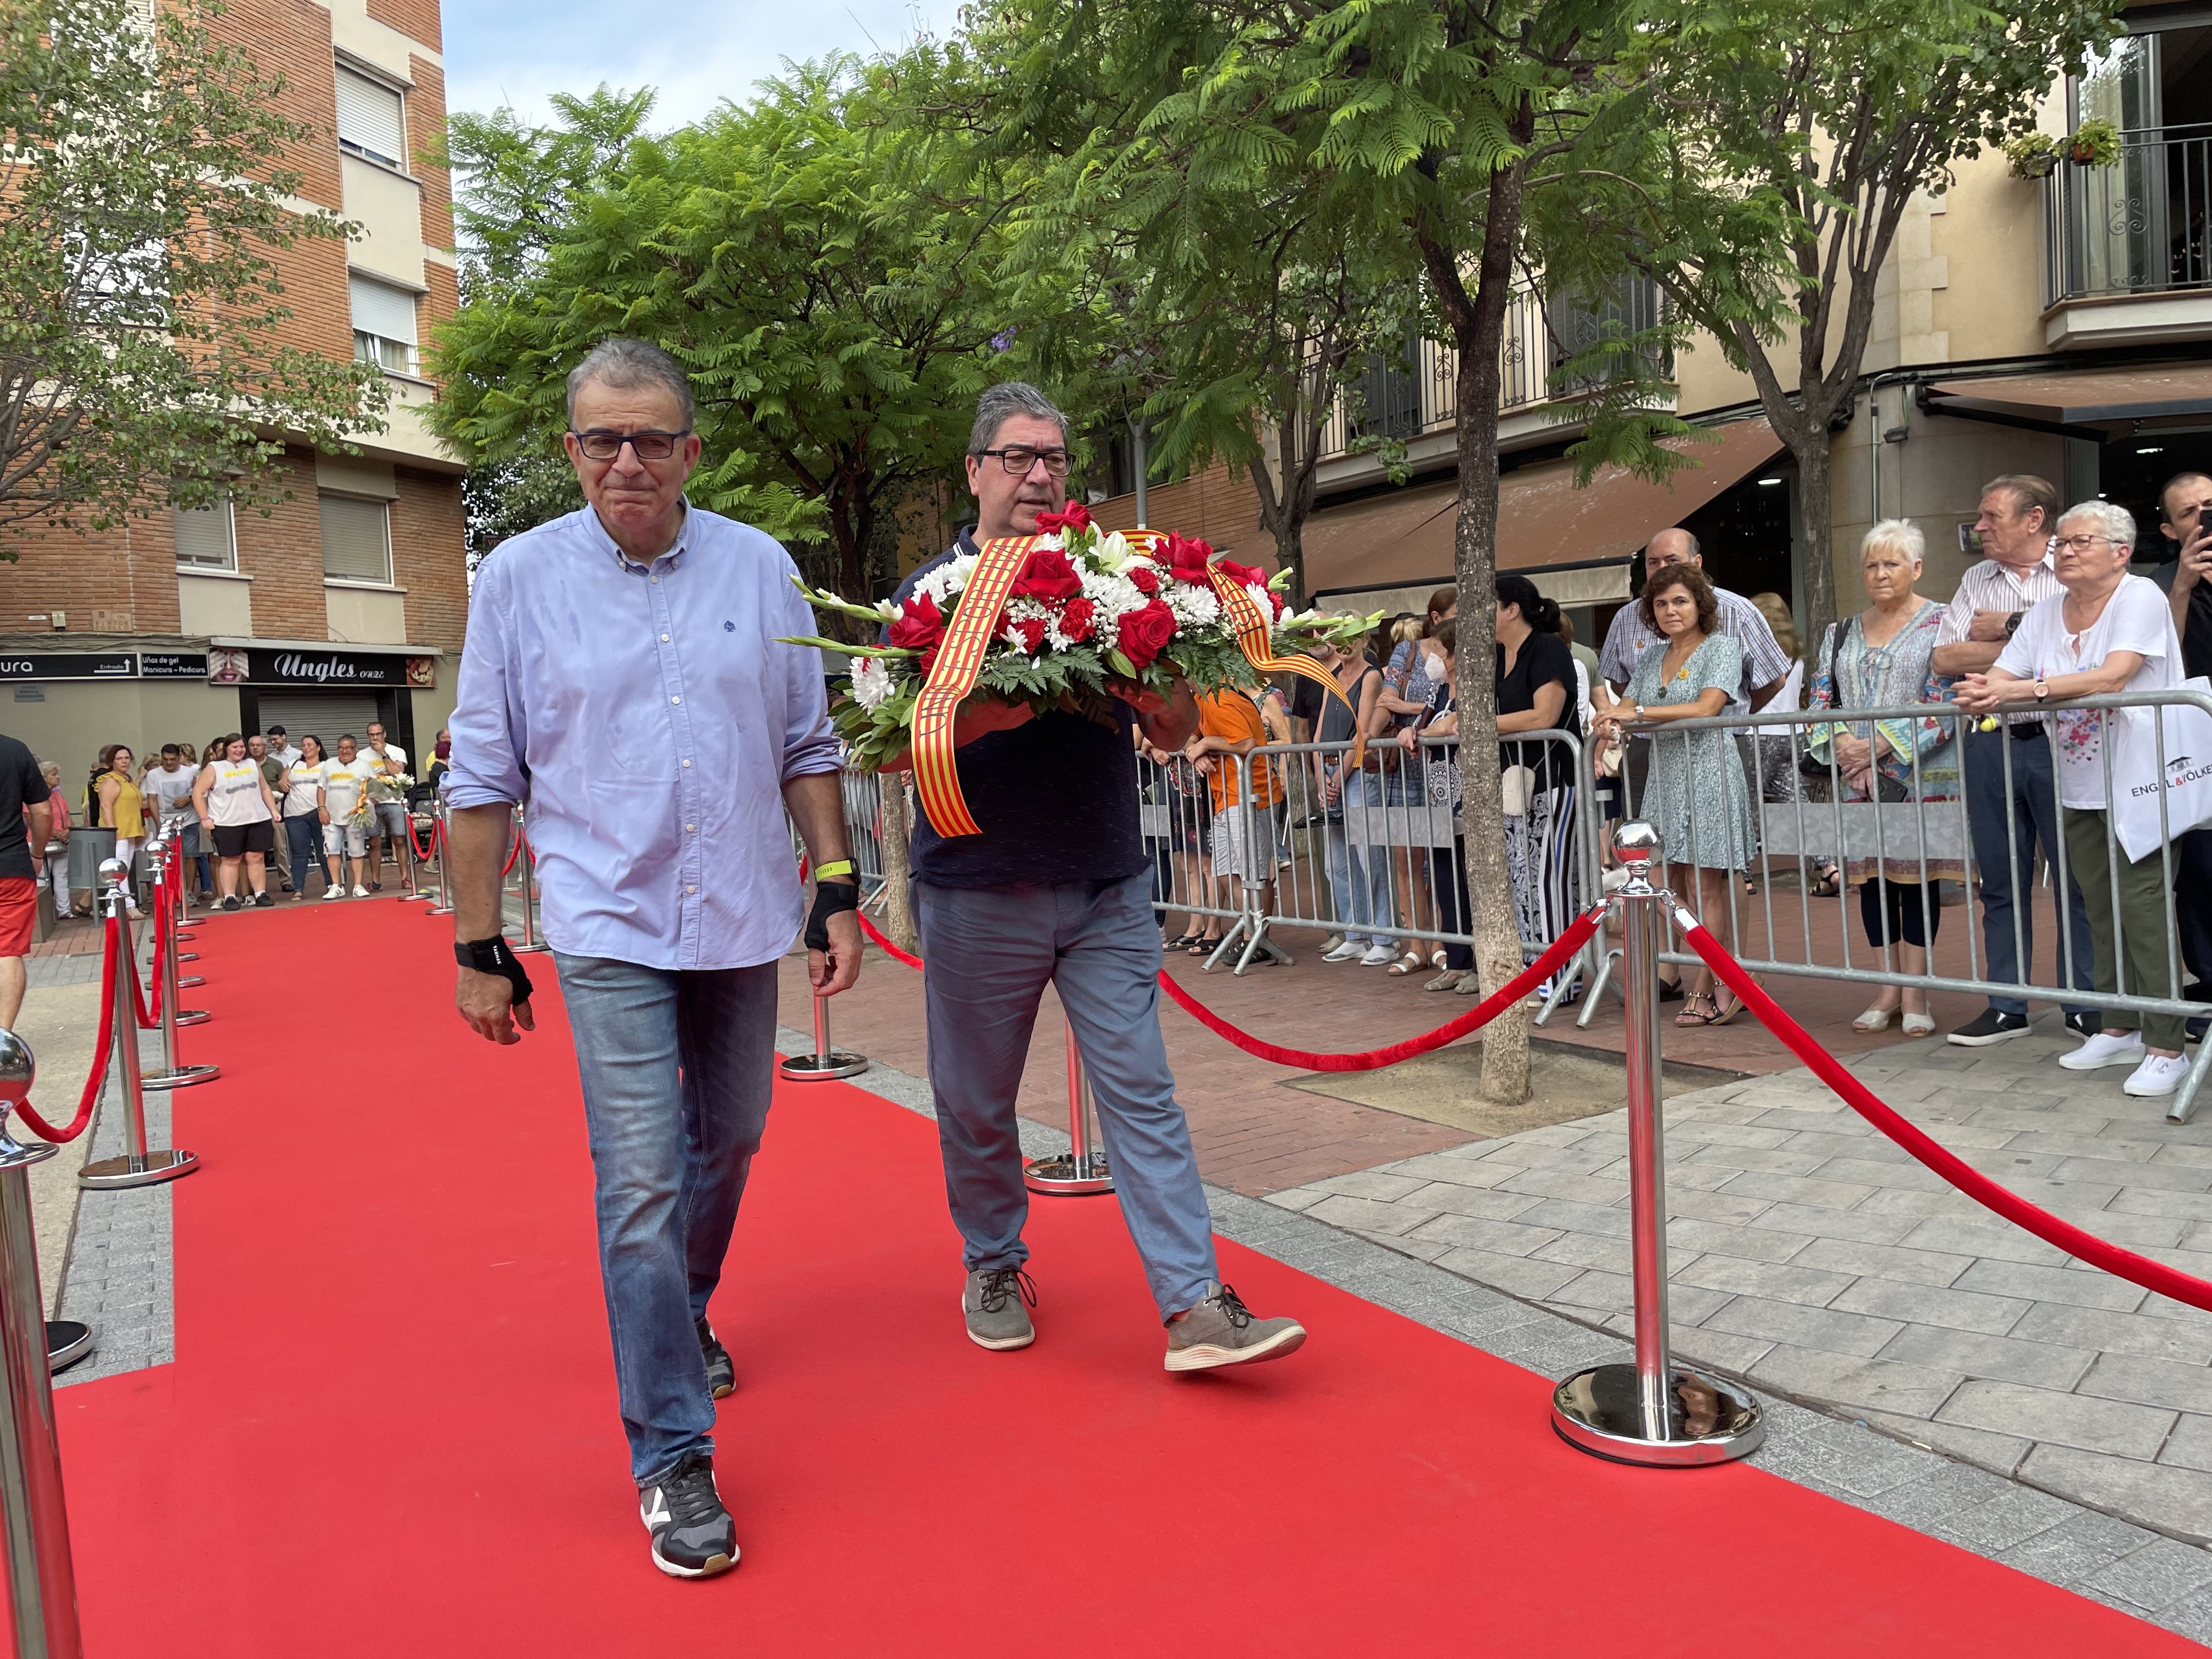
[[(1885, 520), (1860, 542), (1863, 604), (1809, 648), (1778, 595), (1717, 586), (1683, 529), (1644, 549), (1641, 595), (1615, 613), (1595, 655), (1528, 577), (1500, 575), (1493, 684), (1504, 865), (1524, 947), (1540, 951), (1590, 900), (1582, 816), (1615, 818), (1632, 801), (1661, 834), (1668, 885), (1723, 945), (1741, 909), (1736, 885), (1750, 894), (1761, 874), (1798, 869), (1816, 898), (1856, 889), (1867, 947), (1913, 980), (1929, 973), (1949, 885), (1953, 898), (1982, 900), (1978, 975), (2020, 984), (2035, 960), (2026, 894), (2042, 869), (2053, 889), (2064, 872), (2057, 989), (2197, 995), (2212, 987), (2212, 830), (2185, 830), (2170, 852), (2130, 860), (2108, 825), (2110, 717), (2039, 708), (2212, 672), (2208, 515), (2212, 480), (2170, 480), (2161, 529), (2179, 557), (2141, 577), (2128, 571), (2139, 531), (2126, 509), (2090, 500), (2062, 511), (2046, 480), (1995, 478), (1973, 524), (1982, 560), (1949, 602), (1920, 593), (1920, 526)], [(1464, 942), (1471, 905), (1451, 741), (1455, 611), (1458, 591), (1438, 588), (1425, 615), (1391, 619), (1387, 635), (1316, 653), (1334, 697), (1303, 679), (1256, 697), (1223, 692), (1203, 699), (1206, 723), (1183, 750), (1139, 745), (1152, 763), (1146, 834), (1170, 951), (1212, 956), (1234, 911), (1248, 909), (1248, 889), (1267, 914), (1279, 889), (1303, 896), (1298, 832), (1318, 830), (1312, 896), (1325, 887), (1325, 907), (1285, 914), (1329, 920), (1325, 962), (1425, 975), (1429, 991), (1480, 989)], [(1668, 730), (1717, 717), (1734, 723)], [(1358, 763), (1356, 734), (1367, 739)], [(1588, 768), (1566, 739), (1588, 748)], [(1325, 748), (1270, 752), (1285, 743)], [(1239, 810), (1239, 779), (1250, 779), (1250, 812)], [(1871, 845), (1847, 838), (1803, 865), (1761, 858), (1761, 807), (1792, 801), (1900, 814), (1882, 818)], [(1962, 830), (1938, 836), (1933, 849), (1924, 825), (1940, 807), (1931, 803), (1944, 803)], [(2168, 960), (2170, 911), (2179, 962)], [(1263, 947), (1250, 960), (1279, 956)], [(1573, 982), (1537, 991), (1540, 1002), (1575, 995)], [(1681, 1026), (1741, 1013), (1703, 969), (1666, 995), (1681, 1002)], [(2197, 1022), (2062, 1006), (2081, 1037), (2064, 1066), (2126, 1064), (2126, 1091), (2139, 1097), (2179, 1086)], [(1885, 984), (1854, 1026), (1927, 1037), (1936, 1018), (1922, 987)], [(1986, 1046), (2026, 1029), (2026, 1000), (2000, 993), (1949, 1042)]]

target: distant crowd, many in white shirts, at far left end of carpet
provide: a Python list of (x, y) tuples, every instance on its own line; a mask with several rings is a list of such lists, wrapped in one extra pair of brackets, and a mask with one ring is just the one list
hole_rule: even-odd
[[(449, 757), (440, 730), (425, 783), (438, 781)], [(111, 856), (135, 865), (146, 838), (179, 818), (186, 889), (221, 909), (316, 891), (325, 900), (369, 898), (407, 856), (400, 838), (416, 776), (407, 750), (378, 721), (332, 743), (316, 732), (294, 743), (283, 726), (219, 732), (201, 745), (164, 743), (146, 759), (128, 743), (108, 743), (77, 794), (62, 787), (55, 761), (38, 770), (49, 814), (44, 843), (31, 849), (33, 880), (53, 891), (55, 916), (91, 916), (97, 902), (82, 860), (71, 874), (71, 834), (84, 830), (111, 832)], [(135, 891), (131, 914), (139, 914)]]

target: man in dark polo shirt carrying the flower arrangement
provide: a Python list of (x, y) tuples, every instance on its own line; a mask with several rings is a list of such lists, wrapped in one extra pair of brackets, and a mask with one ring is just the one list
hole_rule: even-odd
[[(982, 542), (1033, 535), (1060, 507), (1068, 422), (1042, 392), (995, 385), (975, 407), (967, 456), (978, 524), (898, 591)], [(1029, 1188), (1013, 1102), (1037, 1002), (1060, 991), (1091, 1075), (1099, 1135), (1130, 1239), (1168, 1327), (1170, 1371), (1243, 1365), (1305, 1340), (1292, 1318), (1256, 1318), (1221, 1283), (1190, 1124), (1159, 1037), (1159, 925), (1152, 860), (1137, 830), (1133, 728), (1181, 750), (1199, 726), (1188, 686), (1175, 699), (1135, 690), (1110, 726), (1031, 717), (991, 699), (962, 703), (960, 792), (978, 836), (914, 825), (914, 920), (927, 962), (929, 1088), (938, 1106), (945, 1192), (967, 1241), (967, 1334), (989, 1349), (1029, 1347), (1035, 1285), (1024, 1272)]]

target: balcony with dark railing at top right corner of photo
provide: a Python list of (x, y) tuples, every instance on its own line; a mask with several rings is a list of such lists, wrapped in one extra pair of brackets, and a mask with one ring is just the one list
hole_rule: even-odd
[(2124, 133), (2119, 159), (2044, 179), (2044, 343), (2212, 338), (2212, 137)]

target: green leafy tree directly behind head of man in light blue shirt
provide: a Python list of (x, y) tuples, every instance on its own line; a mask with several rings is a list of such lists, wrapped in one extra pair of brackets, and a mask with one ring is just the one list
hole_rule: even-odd
[(874, 597), (902, 515), (958, 476), (1009, 327), (1000, 217), (900, 184), (927, 142), (883, 117), (880, 80), (849, 58), (628, 139), (546, 215), (511, 285), (440, 330), (440, 431), (478, 462), (538, 451), (591, 345), (655, 341), (699, 403), (692, 498), (792, 542), (823, 586)]

